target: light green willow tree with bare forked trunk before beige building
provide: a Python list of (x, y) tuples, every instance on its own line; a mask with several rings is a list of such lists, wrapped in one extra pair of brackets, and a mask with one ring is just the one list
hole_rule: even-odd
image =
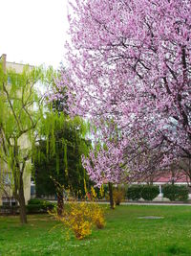
[[(20, 221), (27, 222), (25, 179), (31, 170), (35, 128), (42, 117), (42, 98), (35, 84), (45, 80), (42, 68), (24, 66), (21, 73), (0, 63), (0, 162), (11, 180), (11, 192), (20, 207)], [(8, 82), (9, 81), (9, 82)], [(3, 180), (3, 179), (2, 179)]]

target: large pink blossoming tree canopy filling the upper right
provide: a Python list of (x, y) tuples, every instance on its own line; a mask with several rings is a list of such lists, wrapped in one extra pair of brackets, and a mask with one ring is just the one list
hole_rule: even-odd
[(108, 147), (90, 153), (93, 165), (84, 160), (91, 178), (99, 184), (103, 170), (118, 175), (125, 164), (143, 172), (147, 165), (138, 159), (153, 151), (158, 168), (190, 162), (191, 2), (75, 0), (71, 6), (68, 72), (57, 86), (68, 86), (71, 115), (91, 118), (99, 130), (102, 120), (113, 120), (122, 134), (118, 147), (109, 135), (101, 138)]

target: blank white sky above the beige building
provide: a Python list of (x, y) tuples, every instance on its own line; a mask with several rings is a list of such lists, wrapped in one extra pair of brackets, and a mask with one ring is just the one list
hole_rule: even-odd
[(0, 56), (59, 66), (64, 56), (68, 0), (0, 0)]

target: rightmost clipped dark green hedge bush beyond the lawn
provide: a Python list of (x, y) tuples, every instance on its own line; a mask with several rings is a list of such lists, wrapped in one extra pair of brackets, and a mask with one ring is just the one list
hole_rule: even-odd
[(165, 185), (163, 186), (163, 197), (171, 201), (188, 199), (188, 188), (186, 186)]

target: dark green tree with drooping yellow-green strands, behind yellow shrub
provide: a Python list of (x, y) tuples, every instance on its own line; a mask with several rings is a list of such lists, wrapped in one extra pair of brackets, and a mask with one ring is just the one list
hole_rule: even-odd
[(86, 155), (90, 148), (86, 139), (88, 126), (78, 117), (70, 119), (57, 104), (49, 109), (41, 125), (33, 154), (36, 195), (56, 194), (57, 212), (61, 215), (64, 190), (76, 196), (82, 193), (84, 180), (88, 179), (81, 163), (81, 155)]

